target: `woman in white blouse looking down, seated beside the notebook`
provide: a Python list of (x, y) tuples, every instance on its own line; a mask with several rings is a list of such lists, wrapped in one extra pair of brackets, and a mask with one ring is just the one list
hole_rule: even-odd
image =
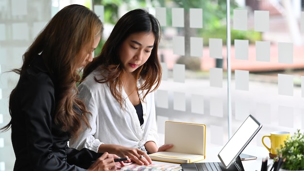
[(147, 11), (136, 9), (118, 20), (101, 53), (84, 68), (79, 98), (92, 113), (92, 129), (71, 139), (71, 147), (127, 156), (146, 165), (152, 163), (148, 154), (172, 147), (156, 145), (153, 91), (162, 73), (159, 41), (158, 20)]

